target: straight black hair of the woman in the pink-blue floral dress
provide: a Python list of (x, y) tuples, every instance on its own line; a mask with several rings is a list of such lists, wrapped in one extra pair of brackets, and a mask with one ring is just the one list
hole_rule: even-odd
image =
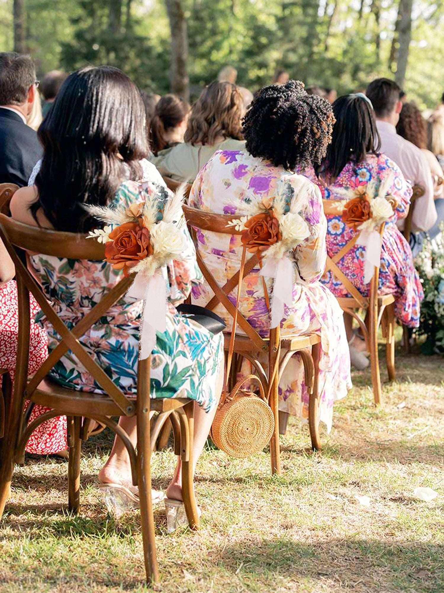
[(339, 97), (332, 107), (336, 119), (332, 142), (324, 160), (317, 165), (316, 174), (334, 180), (348, 162), (358, 164), (368, 154), (378, 154), (381, 138), (371, 103), (362, 95)]

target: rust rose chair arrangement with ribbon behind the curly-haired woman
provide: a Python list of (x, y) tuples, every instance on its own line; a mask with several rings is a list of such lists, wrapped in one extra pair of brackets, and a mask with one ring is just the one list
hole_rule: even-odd
[(289, 254), (310, 236), (307, 222), (299, 214), (298, 200), (288, 205), (287, 196), (263, 199), (259, 203), (244, 203), (246, 216), (229, 223), (242, 231), (241, 241), (249, 253), (260, 254), (262, 276), (274, 278), (270, 327), (277, 327), (284, 317), (284, 304), (293, 302), (294, 270)]

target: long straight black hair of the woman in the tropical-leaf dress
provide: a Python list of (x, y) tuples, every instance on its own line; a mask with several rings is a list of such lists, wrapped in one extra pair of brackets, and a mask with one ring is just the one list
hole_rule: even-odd
[(86, 232), (98, 221), (83, 204), (107, 205), (126, 178), (141, 178), (149, 152), (143, 102), (119, 69), (88, 66), (70, 74), (38, 129), (44, 154), (31, 206), (58, 231)]

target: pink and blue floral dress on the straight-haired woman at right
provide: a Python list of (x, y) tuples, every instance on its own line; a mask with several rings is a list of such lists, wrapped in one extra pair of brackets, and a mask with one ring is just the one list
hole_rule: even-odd
[[(347, 197), (338, 193), (339, 188), (350, 189), (353, 193), (359, 186), (374, 178), (383, 180), (392, 175), (391, 195), (397, 200), (394, 216), (387, 222), (382, 237), (381, 267), (379, 269), (379, 292), (394, 294), (395, 315), (405, 326), (418, 327), (420, 302), (423, 299), (423, 289), (413, 265), (410, 246), (404, 239), (396, 222), (407, 216), (410, 205), (411, 186), (404, 178), (400, 168), (384, 154), (368, 155), (365, 162), (356, 164), (348, 162), (336, 181), (330, 185), (319, 180), (313, 168), (304, 171), (313, 183), (317, 183), (323, 199), (343, 200)], [(350, 195), (350, 197), (352, 197)], [(327, 216), (327, 252), (330, 257), (338, 253), (352, 238), (356, 231), (342, 222), (340, 215)], [(343, 273), (365, 297), (368, 296), (369, 285), (363, 282), (365, 247), (355, 246), (337, 262)], [(321, 282), (328, 286), (336, 297), (348, 297), (343, 284), (332, 273), (326, 272)]]

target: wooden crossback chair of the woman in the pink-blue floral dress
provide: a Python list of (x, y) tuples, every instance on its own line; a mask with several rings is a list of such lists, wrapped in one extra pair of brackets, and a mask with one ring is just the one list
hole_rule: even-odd
[[(324, 212), (327, 215), (337, 215), (342, 212), (342, 200), (323, 200)], [(379, 234), (384, 233), (384, 224), (379, 227)], [(387, 363), (388, 378), (394, 381), (395, 373), (395, 314), (394, 314), (394, 296), (392, 294), (379, 295), (379, 266), (375, 267), (373, 278), (370, 280), (369, 296), (363, 297), (352, 282), (345, 276), (342, 270), (337, 265), (340, 260), (355, 246), (358, 240), (359, 232), (355, 234), (351, 241), (349, 241), (334, 257), (327, 256), (326, 272), (331, 272), (342, 283), (350, 297), (337, 298), (340, 307), (345, 313), (352, 315), (358, 321), (362, 334), (365, 338), (365, 343), (370, 352), (370, 366), (373, 385), (373, 396), (375, 405), (381, 403), (381, 374), (379, 373), (379, 357), (378, 357), (378, 328), (382, 326), (382, 334), (385, 337), (385, 360)], [(359, 316), (359, 310), (368, 311), (368, 326)]]

